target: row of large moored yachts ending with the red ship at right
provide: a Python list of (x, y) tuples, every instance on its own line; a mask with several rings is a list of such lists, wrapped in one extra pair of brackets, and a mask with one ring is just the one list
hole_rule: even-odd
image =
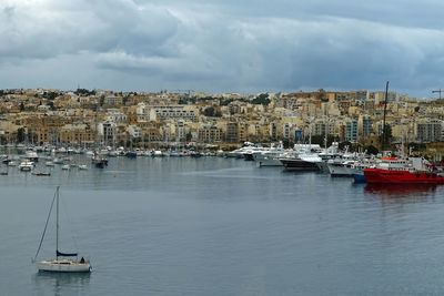
[(353, 176), (355, 182), (397, 184), (444, 184), (441, 165), (423, 157), (375, 156), (339, 150), (334, 142), (322, 150), (317, 144), (295, 144), (284, 149), (282, 143), (261, 147), (252, 143), (229, 153), (229, 156), (255, 161), (258, 166), (283, 166), (286, 171), (319, 171), (332, 176)]

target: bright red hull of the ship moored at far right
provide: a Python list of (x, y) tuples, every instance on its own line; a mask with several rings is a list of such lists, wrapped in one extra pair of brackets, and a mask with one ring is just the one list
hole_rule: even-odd
[(365, 169), (367, 183), (391, 184), (444, 184), (444, 176), (435, 173), (410, 172), (402, 170)]

